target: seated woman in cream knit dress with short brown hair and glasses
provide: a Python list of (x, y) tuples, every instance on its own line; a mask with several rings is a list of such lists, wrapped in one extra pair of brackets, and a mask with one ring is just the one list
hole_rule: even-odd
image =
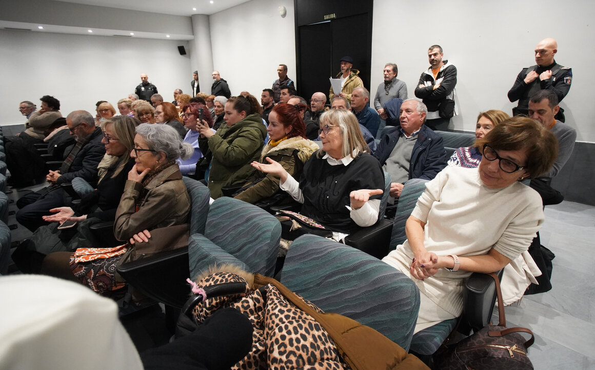
[(416, 333), (461, 315), (464, 280), (508, 265), (544, 220), (541, 197), (520, 181), (552, 167), (558, 142), (550, 130), (513, 117), (477, 146), (477, 168), (446, 167), (426, 184), (406, 222), (407, 240), (383, 258), (419, 287)]

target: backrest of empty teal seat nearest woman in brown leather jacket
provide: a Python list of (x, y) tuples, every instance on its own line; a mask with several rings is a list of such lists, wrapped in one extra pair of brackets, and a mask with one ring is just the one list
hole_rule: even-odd
[(250, 266), (252, 272), (273, 274), (281, 224), (264, 209), (230, 197), (215, 199), (204, 236)]

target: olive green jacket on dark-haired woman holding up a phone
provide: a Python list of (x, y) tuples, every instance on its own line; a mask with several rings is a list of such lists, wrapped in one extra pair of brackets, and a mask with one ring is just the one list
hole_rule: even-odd
[(208, 139), (199, 138), (201, 151), (212, 153), (208, 186), (213, 199), (223, 196), (222, 187), (246, 183), (256, 171), (250, 163), (258, 161), (265, 137), (267, 127), (261, 116), (250, 114), (231, 127), (221, 124)]

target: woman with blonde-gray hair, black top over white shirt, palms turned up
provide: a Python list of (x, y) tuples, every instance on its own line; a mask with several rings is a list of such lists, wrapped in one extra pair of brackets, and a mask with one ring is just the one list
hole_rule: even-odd
[(322, 149), (304, 164), (299, 179), (278, 162), (254, 163), (258, 170), (280, 177), (281, 189), (303, 203), (300, 214), (343, 239), (360, 227), (378, 221), (384, 174), (369, 148), (355, 115), (333, 109), (320, 116)]

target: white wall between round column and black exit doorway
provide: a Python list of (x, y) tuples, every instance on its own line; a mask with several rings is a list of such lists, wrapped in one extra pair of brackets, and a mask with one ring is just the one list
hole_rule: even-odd
[[(287, 8), (285, 18), (277, 11), (280, 6)], [(293, 1), (252, 0), (213, 14), (209, 21), (213, 68), (227, 80), (231, 95), (247, 90), (260, 99), (262, 89), (278, 78), (280, 63), (287, 64), (290, 79), (296, 78)]]

